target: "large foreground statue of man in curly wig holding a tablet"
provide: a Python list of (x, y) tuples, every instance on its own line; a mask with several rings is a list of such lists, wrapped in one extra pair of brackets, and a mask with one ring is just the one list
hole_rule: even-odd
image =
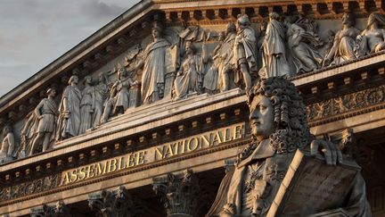
[[(266, 216), (297, 149), (316, 154), (321, 145), (327, 148), (326, 163), (341, 162), (334, 144), (314, 140), (310, 134), (299, 90), (290, 81), (260, 79), (248, 97), (252, 142), (238, 154), (206, 216)], [(357, 178), (343, 208), (352, 216), (370, 216), (364, 179)]]

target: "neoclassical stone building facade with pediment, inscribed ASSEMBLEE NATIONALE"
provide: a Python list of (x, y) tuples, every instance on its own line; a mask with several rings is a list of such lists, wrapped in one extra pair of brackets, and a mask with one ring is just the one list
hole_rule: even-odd
[[(135, 4), (0, 98), (0, 215), (249, 216), (253, 207), (256, 216), (385, 216), (384, 9), (381, 0)], [(259, 94), (271, 104), (253, 104)], [(274, 109), (266, 138), (256, 106)], [(279, 130), (294, 142), (274, 142)], [(265, 191), (220, 204), (226, 177), (263, 139), (273, 153), (252, 165), (318, 141), (315, 152), (337, 165), (311, 181), (348, 186), (341, 199), (330, 182), (318, 198), (343, 201), (364, 178), (358, 195), (370, 211), (314, 202), (290, 214), (274, 190), (260, 209)], [(255, 190), (266, 185), (248, 170)], [(289, 179), (288, 168), (271, 170), (278, 187)], [(339, 177), (348, 170), (358, 178)]]

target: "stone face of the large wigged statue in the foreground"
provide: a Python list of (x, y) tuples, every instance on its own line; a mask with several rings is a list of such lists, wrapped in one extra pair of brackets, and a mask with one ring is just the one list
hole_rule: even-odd
[(251, 134), (258, 140), (274, 133), (274, 107), (266, 96), (255, 96), (250, 105)]

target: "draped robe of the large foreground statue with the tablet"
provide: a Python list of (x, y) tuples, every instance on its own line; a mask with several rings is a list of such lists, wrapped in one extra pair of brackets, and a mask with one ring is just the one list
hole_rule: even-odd
[[(226, 204), (235, 205), (234, 217), (253, 216), (257, 207), (262, 207), (258, 216), (266, 216), (293, 156), (294, 152), (275, 154), (269, 140), (262, 141), (250, 156), (227, 172), (206, 217), (220, 216)], [(371, 216), (365, 198), (364, 179), (359, 174), (343, 208), (352, 216)]]

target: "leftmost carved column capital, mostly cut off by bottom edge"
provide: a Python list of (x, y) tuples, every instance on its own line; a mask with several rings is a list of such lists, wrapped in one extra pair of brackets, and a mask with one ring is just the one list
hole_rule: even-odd
[(43, 204), (31, 209), (31, 217), (71, 217), (70, 208), (62, 201), (54, 205)]

